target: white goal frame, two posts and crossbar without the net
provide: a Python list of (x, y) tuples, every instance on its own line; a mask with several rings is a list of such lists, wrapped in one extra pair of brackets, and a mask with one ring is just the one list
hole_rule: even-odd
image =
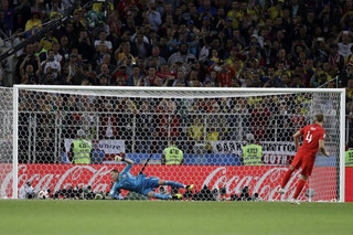
[[(108, 92), (108, 90), (121, 90), (121, 92), (200, 92), (202, 94), (212, 93), (238, 93), (238, 94), (296, 94), (296, 93), (335, 93), (340, 94), (341, 98), (341, 109), (340, 109), (340, 199), (339, 202), (344, 202), (344, 182), (345, 182), (345, 165), (344, 165), (344, 148), (345, 148), (345, 94), (344, 88), (196, 88), (196, 87), (116, 87), (116, 86), (47, 86), (47, 85), (14, 85), (13, 86), (13, 193), (12, 197), (18, 199), (18, 172), (19, 172), (19, 161), (18, 161), (18, 147), (19, 147), (19, 92), (20, 90), (64, 90), (64, 92), (75, 92), (75, 90), (97, 90), (97, 92)], [(199, 97), (199, 96), (197, 96)]]

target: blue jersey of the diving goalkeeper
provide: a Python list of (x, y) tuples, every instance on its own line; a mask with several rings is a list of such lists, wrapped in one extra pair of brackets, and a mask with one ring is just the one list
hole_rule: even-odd
[(119, 189), (142, 193), (145, 189), (145, 174), (132, 175), (130, 170), (132, 164), (128, 164), (119, 174), (119, 180), (113, 185), (109, 195), (115, 196)]

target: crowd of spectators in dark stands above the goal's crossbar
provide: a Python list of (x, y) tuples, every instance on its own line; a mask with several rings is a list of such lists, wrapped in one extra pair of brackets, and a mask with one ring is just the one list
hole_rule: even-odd
[[(17, 52), (13, 83), (347, 87), (352, 122), (352, 0), (115, 0), (89, 8), (87, 2)], [(0, 36), (15, 45), (71, 6), (2, 0)]]

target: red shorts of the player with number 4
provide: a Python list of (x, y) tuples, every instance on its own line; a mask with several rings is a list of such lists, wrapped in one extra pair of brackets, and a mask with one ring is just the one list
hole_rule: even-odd
[(301, 168), (301, 174), (306, 177), (310, 177), (313, 164), (315, 163), (317, 153), (308, 152), (306, 150), (298, 151), (291, 167), (299, 170)]

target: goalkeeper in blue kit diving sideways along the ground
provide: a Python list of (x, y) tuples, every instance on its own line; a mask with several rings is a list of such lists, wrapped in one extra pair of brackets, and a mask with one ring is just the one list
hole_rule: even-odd
[(147, 178), (145, 174), (139, 174), (135, 177), (130, 173), (130, 169), (132, 168), (132, 164), (133, 164), (132, 160), (124, 159), (119, 156), (116, 156), (115, 161), (117, 162), (122, 161), (122, 162), (126, 162), (128, 165), (121, 171), (121, 173), (119, 173), (118, 170), (110, 171), (110, 175), (115, 181), (115, 184), (113, 185), (109, 192), (110, 199), (114, 199), (118, 193), (118, 190), (120, 189), (140, 193), (149, 197), (161, 199), (161, 200), (181, 199), (182, 197), (181, 194), (169, 195), (169, 194), (156, 193), (154, 189), (157, 189), (160, 185), (176, 186), (176, 188), (183, 188), (186, 190), (191, 190), (193, 188), (193, 185), (184, 185), (173, 181), (160, 180), (154, 177)]

